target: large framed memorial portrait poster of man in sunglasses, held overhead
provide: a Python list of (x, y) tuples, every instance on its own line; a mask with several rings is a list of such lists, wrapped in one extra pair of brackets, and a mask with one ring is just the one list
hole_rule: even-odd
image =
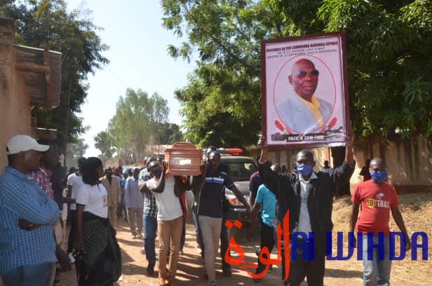
[(262, 130), (267, 146), (346, 144), (345, 50), (342, 32), (262, 41)]

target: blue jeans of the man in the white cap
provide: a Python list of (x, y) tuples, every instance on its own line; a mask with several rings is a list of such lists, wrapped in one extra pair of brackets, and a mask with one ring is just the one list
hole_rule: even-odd
[(55, 263), (20, 266), (2, 276), (5, 286), (48, 285)]

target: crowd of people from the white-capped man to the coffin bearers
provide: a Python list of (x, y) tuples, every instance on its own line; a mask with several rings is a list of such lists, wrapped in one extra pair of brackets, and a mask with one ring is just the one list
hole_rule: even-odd
[[(128, 221), (132, 239), (144, 240), (148, 275), (155, 275), (158, 238), (158, 283), (175, 285), (187, 190), (194, 192), (197, 206), (203, 276), (216, 285), (224, 187), (250, 212), (234, 182), (220, 171), (216, 151), (208, 153), (203, 175), (192, 179), (166, 175), (165, 163), (153, 156), (144, 168), (114, 170), (104, 169), (99, 158), (79, 158), (66, 175), (55, 141), (36, 142), (27, 135), (12, 137), (6, 149), (8, 167), (0, 176), (0, 275), (6, 286), (54, 285), (59, 271), (70, 271), (73, 262), (79, 285), (112, 285), (121, 277), (118, 217)], [(224, 240), (227, 249), (227, 233)]]

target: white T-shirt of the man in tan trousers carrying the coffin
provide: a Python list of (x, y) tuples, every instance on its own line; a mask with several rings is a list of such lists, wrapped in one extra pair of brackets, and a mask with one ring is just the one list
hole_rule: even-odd
[[(151, 178), (147, 181), (147, 187), (150, 188), (157, 184), (156, 178)], [(165, 189), (162, 193), (153, 192), (154, 198), (158, 205), (158, 221), (168, 221), (177, 219), (183, 215), (182, 205), (180, 205), (180, 198), (177, 198), (174, 193), (175, 179), (169, 176), (165, 180)]]

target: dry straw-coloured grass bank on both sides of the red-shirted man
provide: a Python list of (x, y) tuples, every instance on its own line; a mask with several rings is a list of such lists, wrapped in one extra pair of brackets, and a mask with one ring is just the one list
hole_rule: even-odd
[[(417, 231), (423, 231), (428, 238), (432, 238), (432, 193), (410, 193), (399, 196), (400, 212), (402, 213), (405, 226), (410, 236)], [(334, 232), (344, 232), (344, 245), (347, 245), (346, 232), (349, 231), (349, 216), (351, 213), (351, 200), (349, 196), (337, 198), (333, 205), (333, 223), (335, 224)], [(391, 218), (391, 231), (399, 231), (398, 226)], [(333, 237), (333, 253), (336, 251), (336, 240)], [(421, 240), (419, 240), (420, 242)], [(399, 242), (396, 241), (398, 249)], [(428, 243), (430, 246), (431, 243)], [(346, 247), (344, 247), (346, 250)], [(432, 282), (432, 252), (431, 247), (428, 247), (428, 260), (422, 261), (421, 250), (417, 251), (417, 261), (411, 260), (411, 252), (406, 253), (405, 259), (402, 261), (393, 261), (392, 264), (392, 280), (393, 283), (398, 279), (416, 280), (421, 282)], [(344, 252), (346, 254), (346, 252)], [(398, 255), (398, 253), (396, 253)], [(335, 266), (340, 266), (346, 269), (357, 269), (363, 271), (363, 264), (357, 261), (356, 252), (349, 261), (332, 261)], [(399, 284), (396, 284), (399, 285)]]

